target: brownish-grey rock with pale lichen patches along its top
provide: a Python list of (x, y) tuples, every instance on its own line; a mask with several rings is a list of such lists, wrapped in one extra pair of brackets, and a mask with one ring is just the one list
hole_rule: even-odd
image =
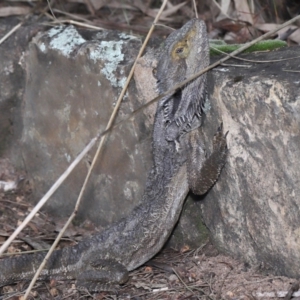
[[(39, 34), (26, 57), (22, 156), (39, 200), (84, 146), (105, 129), (141, 45), (113, 31), (79, 31), (73, 26)], [(117, 121), (141, 106), (134, 85)], [(106, 225), (126, 215), (141, 199), (147, 170), (150, 122), (139, 114), (108, 138), (85, 193), (78, 217)], [(46, 204), (67, 216), (74, 207), (92, 155)], [(100, 201), (99, 201), (100, 199)]]

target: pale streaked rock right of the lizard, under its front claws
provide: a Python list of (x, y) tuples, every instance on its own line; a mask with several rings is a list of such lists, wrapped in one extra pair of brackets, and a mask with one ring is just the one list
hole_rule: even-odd
[[(219, 67), (205, 132), (223, 121), (229, 155), (220, 180), (201, 201), (223, 251), (277, 274), (300, 270), (299, 47), (245, 58), (272, 63)], [(237, 64), (239, 62), (232, 61)], [(210, 138), (209, 138), (210, 139)], [(208, 139), (208, 140), (209, 140)]]

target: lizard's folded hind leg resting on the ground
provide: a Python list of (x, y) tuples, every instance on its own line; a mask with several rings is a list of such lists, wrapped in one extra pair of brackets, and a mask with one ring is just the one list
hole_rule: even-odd
[(87, 270), (78, 275), (76, 288), (88, 291), (115, 291), (128, 280), (128, 270), (113, 259), (95, 258), (87, 262)]

